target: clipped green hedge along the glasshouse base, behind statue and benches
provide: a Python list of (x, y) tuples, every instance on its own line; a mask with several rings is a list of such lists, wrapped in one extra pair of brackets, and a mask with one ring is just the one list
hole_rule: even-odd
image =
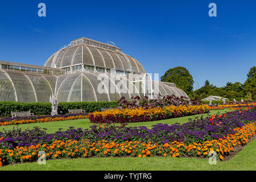
[[(51, 114), (51, 103), (46, 102), (0, 102), (0, 117), (11, 117), (11, 111), (31, 111), (35, 115)], [(117, 107), (117, 101), (112, 102), (59, 102), (58, 113), (67, 114), (68, 109), (82, 109), (88, 113), (101, 111), (101, 107)]]

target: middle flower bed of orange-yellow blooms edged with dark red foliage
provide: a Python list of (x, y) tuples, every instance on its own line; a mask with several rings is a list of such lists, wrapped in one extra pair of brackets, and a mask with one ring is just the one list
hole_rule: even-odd
[(104, 112), (95, 111), (89, 114), (89, 119), (92, 123), (133, 123), (157, 121), (161, 119), (184, 117), (187, 115), (208, 112), (208, 105), (180, 105), (154, 108), (150, 107), (148, 109), (138, 107), (134, 109), (112, 109)]

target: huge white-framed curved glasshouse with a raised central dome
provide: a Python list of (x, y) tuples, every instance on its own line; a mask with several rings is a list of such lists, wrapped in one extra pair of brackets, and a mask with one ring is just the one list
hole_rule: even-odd
[(0, 61), (0, 101), (114, 101), (124, 96), (187, 94), (169, 82), (153, 81), (141, 63), (112, 44), (73, 40), (44, 66)]

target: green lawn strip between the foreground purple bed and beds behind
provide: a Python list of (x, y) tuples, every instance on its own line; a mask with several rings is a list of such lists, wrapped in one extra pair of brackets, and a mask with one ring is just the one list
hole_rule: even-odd
[[(228, 109), (225, 110), (211, 110), (210, 114), (217, 114), (217, 113), (226, 113), (228, 112)], [(207, 115), (207, 114), (204, 114)], [(171, 118), (171, 119), (165, 119), (162, 121), (152, 121), (152, 122), (138, 122), (138, 123), (129, 123), (127, 126), (146, 126), (150, 128), (152, 125), (155, 125), (157, 123), (185, 123), (188, 121), (188, 118), (194, 118), (195, 115), (187, 116), (187, 117), (180, 117), (180, 118)], [(90, 126), (94, 125), (93, 123), (90, 123), (89, 119), (77, 119), (77, 120), (69, 120), (69, 121), (55, 121), (55, 122), (44, 122), (44, 123), (30, 123), (30, 124), (23, 124), (18, 125), (22, 130), (24, 129), (32, 129), (32, 127), (38, 126), (41, 128), (46, 128), (47, 133), (55, 133), (60, 128), (63, 128), (63, 130), (68, 129), (70, 126), (75, 127), (76, 129), (81, 127), (82, 129), (89, 128)], [(11, 126), (0, 126), (0, 131), (5, 130), (12, 130), (14, 125)]]

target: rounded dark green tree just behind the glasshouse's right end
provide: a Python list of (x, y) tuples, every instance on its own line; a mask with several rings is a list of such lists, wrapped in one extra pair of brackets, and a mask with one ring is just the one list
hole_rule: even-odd
[(189, 97), (193, 97), (193, 77), (189, 71), (184, 67), (175, 67), (169, 69), (161, 77), (161, 81), (172, 82), (176, 84), (177, 88), (184, 90)]

